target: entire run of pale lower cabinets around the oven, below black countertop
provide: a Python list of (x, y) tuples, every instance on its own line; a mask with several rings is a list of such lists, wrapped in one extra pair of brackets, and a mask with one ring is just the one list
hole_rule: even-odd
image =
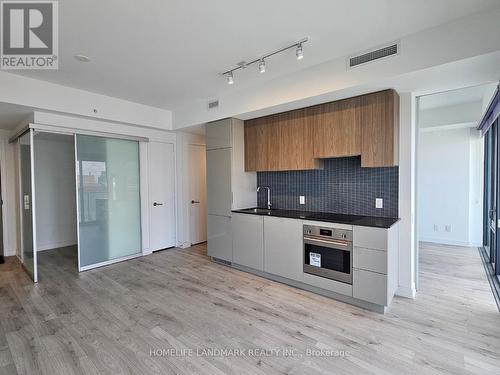
[[(233, 213), (209, 215), (210, 256), (379, 306), (397, 288), (398, 225), (353, 228), (352, 285), (303, 272), (303, 221)], [(285, 281), (286, 282), (286, 281)]]

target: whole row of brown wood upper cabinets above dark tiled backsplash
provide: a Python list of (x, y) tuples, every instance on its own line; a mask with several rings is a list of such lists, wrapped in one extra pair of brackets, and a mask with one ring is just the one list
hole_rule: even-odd
[(320, 167), (361, 155), (362, 167), (398, 163), (399, 96), (386, 90), (245, 121), (245, 170)]

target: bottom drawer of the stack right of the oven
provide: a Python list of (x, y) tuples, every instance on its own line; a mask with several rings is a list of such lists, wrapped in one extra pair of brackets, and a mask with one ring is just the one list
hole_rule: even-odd
[(387, 275), (354, 268), (352, 294), (354, 298), (387, 306)]

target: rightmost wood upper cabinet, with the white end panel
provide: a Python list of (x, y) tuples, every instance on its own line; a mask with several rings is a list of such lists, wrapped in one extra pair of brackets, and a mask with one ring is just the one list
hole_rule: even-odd
[(361, 167), (399, 162), (399, 95), (385, 90), (360, 97)]

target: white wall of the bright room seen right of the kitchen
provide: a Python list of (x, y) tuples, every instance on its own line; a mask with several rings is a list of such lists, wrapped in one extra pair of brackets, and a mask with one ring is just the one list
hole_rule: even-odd
[(481, 144), (477, 131), (470, 128), (420, 132), (421, 241), (464, 246), (481, 243)]

